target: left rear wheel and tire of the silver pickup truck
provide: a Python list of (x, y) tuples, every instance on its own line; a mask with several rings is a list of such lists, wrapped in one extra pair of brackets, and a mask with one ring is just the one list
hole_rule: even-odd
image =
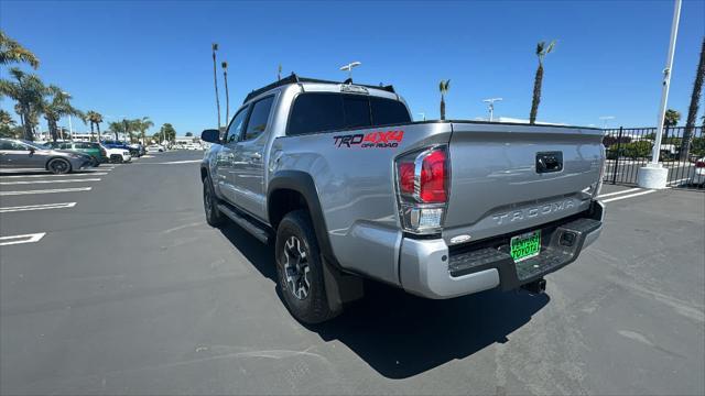
[(278, 286), (296, 320), (321, 323), (340, 314), (328, 305), (321, 250), (306, 211), (295, 210), (282, 219), (274, 253)]

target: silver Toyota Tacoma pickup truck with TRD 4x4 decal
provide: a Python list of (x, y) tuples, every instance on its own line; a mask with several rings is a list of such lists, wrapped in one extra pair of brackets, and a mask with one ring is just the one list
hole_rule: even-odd
[(436, 299), (540, 293), (601, 230), (597, 129), (412, 122), (391, 86), (292, 75), (202, 139), (208, 223), (272, 242), (303, 322), (338, 315), (364, 278)]

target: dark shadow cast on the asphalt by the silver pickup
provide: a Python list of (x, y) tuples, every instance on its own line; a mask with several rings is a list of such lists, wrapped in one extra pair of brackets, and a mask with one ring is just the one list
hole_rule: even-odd
[[(263, 276), (276, 283), (271, 246), (235, 224), (220, 231)], [(381, 375), (405, 378), (470, 356), (495, 342), (507, 342), (510, 333), (549, 301), (545, 294), (499, 290), (431, 300), (366, 282), (365, 298), (348, 305), (340, 317), (305, 327), (324, 341), (343, 342)]]

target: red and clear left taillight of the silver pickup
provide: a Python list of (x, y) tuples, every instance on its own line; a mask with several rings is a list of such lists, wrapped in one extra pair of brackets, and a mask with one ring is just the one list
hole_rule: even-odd
[(447, 148), (412, 152), (395, 165), (402, 227), (415, 234), (440, 232), (448, 198)]

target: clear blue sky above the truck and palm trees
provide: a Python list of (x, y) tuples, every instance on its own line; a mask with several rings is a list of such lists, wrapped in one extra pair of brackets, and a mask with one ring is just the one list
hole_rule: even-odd
[[(646, 127), (655, 124), (672, 12), (672, 1), (4, 0), (0, 26), (75, 106), (106, 121), (149, 116), (153, 131), (216, 124), (212, 42), (230, 64), (230, 114), (280, 63), (284, 74), (341, 80), (338, 67), (360, 61), (355, 80), (393, 84), (415, 118), (438, 117), (438, 81), (449, 78), (449, 118), (486, 117), (481, 99), (502, 97), (496, 116), (527, 119), (534, 47), (551, 38), (539, 120)], [(669, 100), (683, 121), (704, 34), (705, 1), (684, 1)]]

